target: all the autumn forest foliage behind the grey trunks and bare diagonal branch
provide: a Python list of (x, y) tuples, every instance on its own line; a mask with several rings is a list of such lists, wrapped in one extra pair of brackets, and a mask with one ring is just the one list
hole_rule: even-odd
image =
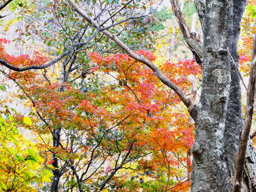
[[(200, 62), (171, 6), (157, 7), (157, 0), (76, 3), (198, 102)], [(179, 3), (202, 41), (194, 2)], [(250, 0), (238, 44), (245, 84), (255, 10)], [(55, 61), (24, 72), (0, 68), (0, 190), (190, 190), (195, 125), (175, 91), (81, 18), (69, 1), (13, 0), (0, 14), (1, 59), (17, 68)], [(245, 98), (242, 87), (243, 110)], [(252, 126), (253, 145), (254, 131)], [(244, 177), (244, 191), (254, 190), (256, 181), (249, 179)]]

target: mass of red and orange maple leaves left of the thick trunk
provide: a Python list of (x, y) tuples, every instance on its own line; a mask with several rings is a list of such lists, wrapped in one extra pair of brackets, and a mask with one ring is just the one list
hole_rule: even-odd
[[(138, 50), (136, 53), (144, 55), (150, 61), (155, 60), (149, 51)], [(47, 61), (39, 53), (35, 53), (33, 58), (29, 55), (15, 57), (4, 52), (3, 47), (0, 55), (16, 67), (40, 65)], [(94, 140), (102, 133), (103, 127), (104, 130), (122, 133), (123, 142), (119, 148), (123, 148), (124, 152), (132, 141), (131, 154), (151, 153), (148, 158), (137, 162), (140, 169), (150, 167), (155, 171), (161, 170), (169, 177), (184, 175), (179, 167), (182, 166), (181, 162), (190, 165), (186, 152), (192, 145), (194, 134), (193, 125), (189, 124), (189, 115), (186, 110), (182, 110), (176, 93), (164, 86), (148, 67), (128, 55), (102, 57), (97, 53), (90, 53), (90, 57), (97, 64), (91, 72), (102, 80), (98, 82), (100, 86), (89, 81), (87, 84), (99, 87), (97, 89), (82, 91), (71, 84), (58, 81), (49, 85), (36, 71), (10, 73), (22, 85), (26, 96), (33, 99), (36, 111), (49, 121), (48, 125), (41, 126), (34, 121), (30, 128), (40, 134), (49, 134), (61, 125), (64, 130), (77, 130), (72, 137)], [(189, 76), (200, 76), (201, 73), (200, 67), (191, 60), (165, 62), (159, 68), (184, 92), (191, 86)], [(94, 75), (90, 77), (93, 78)], [(36, 115), (35, 113), (31, 118), (36, 119)], [(109, 136), (108, 140), (101, 143), (100, 153), (103, 156), (108, 157), (110, 153), (114, 155), (114, 151), (108, 149), (116, 148), (114, 138), (116, 136)], [(84, 158), (84, 153), (92, 151), (90, 144), (79, 146), (76, 153), (72, 153), (72, 148), (68, 145), (65, 148), (47, 145), (41, 146), (54, 151), (62, 159)], [(183, 187), (180, 191), (187, 191), (188, 188), (184, 186), (187, 184), (177, 187)]]

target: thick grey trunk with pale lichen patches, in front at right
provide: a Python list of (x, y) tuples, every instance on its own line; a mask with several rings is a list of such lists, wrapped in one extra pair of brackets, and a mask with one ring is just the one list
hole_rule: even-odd
[(224, 126), (230, 93), (232, 0), (207, 0), (204, 15), (203, 84), (192, 146), (191, 192), (230, 192)]

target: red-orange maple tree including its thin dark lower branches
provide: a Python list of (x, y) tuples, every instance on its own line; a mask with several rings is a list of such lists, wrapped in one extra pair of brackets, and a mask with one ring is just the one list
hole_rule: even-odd
[[(7, 43), (7, 41), (4, 42)], [(139, 50), (136, 53), (143, 54), (152, 61), (155, 60), (151, 52)], [(5, 60), (12, 65), (24, 64), (23, 60), (19, 61), (20, 57), (15, 60), (14, 56), (8, 54), (3, 54), (2, 57), (6, 57)], [(42, 55), (35, 57), (41, 63), (46, 62)], [(13, 79), (33, 102), (33, 108), (37, 114), (34, 111), (30, 115), (39, 115), (44, 122), (44, 125), (38, 129), (35, 119), (33, 120), (34, 126), (29, 126), (30, 129), (39, 134), (52, 134), (53, 137), (57, 126), (61, 125), (64, 130), (64, 135), (61, 136), (63, 138), (58, 140), (58, 147), (51, 147), (47, 142), (40, 145), (53, 153), (53, 160), (49, 160), (49, 163), (61, 160), (58, 169), (63, 171), (60, 172), (58, 179), (62, 175), (70, 177), (73, 172), (72, 175), (76, 176), (77, 181), (68, 180), (63, 187), (78, 187), (80, 191), (93, 187), (99, 187), (101, 190), (109, 186), (118, 188), (120, 185), (129, 186), (130, 184), (145, 188), (152, 182), (149, 178), (148, 182), (139, 178), (140, 183), (137, 183), (137, 175), (132, 176), (134, 173), (125, 172), (126, 175), (128, 173), (131, 175), (128, 179), (131, 180), (127, 182), (120, 180), (123, 176), (116, 176), (115, 173), (119, 169), (131, 169), (137, 172), (150, 170), (144, 171), (148, 177), (160, 177), (161, 180), (165, 180), (164, 173), (168, 171), (169, 181), (166, 181), (166, 184), (162, 183), (162, 186), (159, 186), (156, 182), (151, 183), (150, 186), (153, 189), (170, 188), (176, 183), (171, 182), (171, 177), (175, 175), (181, 177), (184, 174), (179, 173), (175, 167), (186, 167), (187, 163), (188, 165), (191, 163), (190, 160), (186, 160), (184, 153), (193, 142), (192, 125), (184, 124), (184, 121), (188, 123), (187, 115), (172, 110), (166, 111), (170, 104), (178, 103), (179, 99), (171, 90), (163, 87), (156, 77), (151, 76), (149, 68), (141, 66), (128, 55), (117, 54), (103, 58), (96, 53), (91, 53), (90, 58), (97, 63), (97, 66), (90, 70), (96, 73), (90, 75), (95, 82), (84, 83), (81, 87), (79, 86), (80, 89), (76, 88), (78, 84), (75, 82), (73, 85), (58, 81), (53, 83), (54, 80), (45, 77), (42, 81), (42, 75), (32, 74), (29, 71), (22, 74), (6, 73), (6, 76)], [(166, 65), (170, 68), (164, 67)], [(179, 63), (167, 62), (160, 68), (163, 68), (163, 72), (170, 79), (183, 87), (184, 91), (190, 86), (187, 76), (198, 75), (201, 72), (198, 65), (189, 60)], [(172, 77), (173, 73), (179, 74), (180, 77)], [(20, 98), (24, 98), (24, 93), (20, 94)], [(156, 104), (153, 104), (152, 100)], [(160, 112), (161, 115), (159, 115)], [(169, 131), (169, 124), (173, 125), (173, 131)], [(83, 138), (87, 140), (86, 144)], [(177, 140), (177, 138), (180, 139)], [(117, 154), (118, 157), (116, 157)], [(149, 156), (148, 160), (144, 159), (146, 156)], [(136, 167), (134, 163), (137, 160)], [(98, 181), (91, 179), (93, 175), (105, 174), (102, 165), (106, 161), (109, 162), (108, 165), (116, 163), (115, 169), (111, 169), (111, 175), (100, 177)], [(94, 166), (94, 163), (99, 163), (97, 169), (87, 172), (86, 169)], [(133, 164), (126, 165), (127, 163)], [(160, 173), (157, 173), (159, 167), (163, 168), (160, 169)], [(142, 175), (145, 175), (144, 172)], [(111, 185), (106, 186), (110, 179), (113, 180)], [(89, 180), (93, 180), (93, 183)], [(102, 180), (104, 184), (97, 184)], [(89, 185), (88, 182), (91, 184)], [(189, 186), (188, 181), (182, 184), (177, 187), (188, 190), (186, 187)]]

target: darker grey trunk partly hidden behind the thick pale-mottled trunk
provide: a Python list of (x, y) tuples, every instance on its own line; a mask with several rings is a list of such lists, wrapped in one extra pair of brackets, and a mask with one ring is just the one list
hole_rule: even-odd
[[(237, 44), (240, 34), (241, 19), (244, 13), (247, 0), (233, 0), (233, 30), (230, 54), (236, 65), (239, 64)], [(231, 83), (230, 96), (227, 107), (227, 117), (224, 131), (224, 147), (229, 168), (232, 169), (233, 163), (238, 152), (240, 131), (244, 125), (241, 109), (241, 87), (240, 77), (236, 67), (230, 64)], [(231, 171), (231, 170), (229, 170)]]

